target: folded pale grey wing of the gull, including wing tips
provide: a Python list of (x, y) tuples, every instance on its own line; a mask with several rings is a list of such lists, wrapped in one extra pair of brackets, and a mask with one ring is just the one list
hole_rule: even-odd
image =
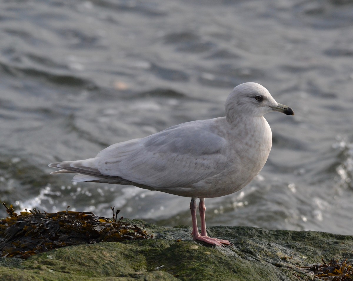
[(98, 181), (97, 177), (152, 189), (183, 187), (225, 169), (225, 144), (210, 130), (184, 123), (143, 139), (113, 144), (95, 158), (50, 166), (88, 175), (76, 177), (77, 181)]

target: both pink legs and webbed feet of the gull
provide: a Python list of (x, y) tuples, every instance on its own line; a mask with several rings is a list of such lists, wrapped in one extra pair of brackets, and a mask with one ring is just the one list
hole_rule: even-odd
[(211, 238), (207, 236), (206, 232), (206, 219), (205, 219), (205, 211), (206, 211), (206, 206), (205, 206), (205, 199), (200, 198), (200, 204), (199, 204), (199, 211), (200, 211), (200, 217), (201, 217), (201, 235), (198, 232), (197, 229), (197, 221), (196, 221), (196, 198), (191, 199), (190, 203), (190, 210), (191, 210), (191, 218), (192, 218), (192, 235), (194, 240), (200, 240), (212, 245), (216, 246), (222, 246), (222, 244), (225, 245), (233, 245), (231, 242), (228, 240), (222, 240), (222, 239), (217, 239), (217, 238)]

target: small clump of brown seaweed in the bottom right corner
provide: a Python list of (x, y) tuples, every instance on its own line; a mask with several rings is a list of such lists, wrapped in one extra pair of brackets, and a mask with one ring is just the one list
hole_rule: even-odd
[(353, 281), (352, 262), (347, 262), (347, 258), (341, 262), (331, 259), (326, 263), (322, 259), (322, 264), (314, 264), (311, 267), (301, 267), (313, 271), (314, 276), (322, 280), (332, 281)]

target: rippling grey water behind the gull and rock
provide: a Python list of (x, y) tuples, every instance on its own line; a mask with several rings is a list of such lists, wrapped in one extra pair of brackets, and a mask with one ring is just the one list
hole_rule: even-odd
[[(48, 163), (223, 116), (239, 83), (269, 113), (273, 148), (207, 224), (352, 234), (353, 1), (2, 1), (0, 199), (191, 225), (189, 198), (48, 175)], [(6, 215), (0, 209), (0, 217)]]

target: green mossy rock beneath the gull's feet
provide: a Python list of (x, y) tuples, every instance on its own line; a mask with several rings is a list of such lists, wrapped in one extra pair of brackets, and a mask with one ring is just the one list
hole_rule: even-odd
[[(130, 220), (128, 220), (130, 221)], [(255, 227), (209, 227), (234, 246), (195, 242), (189, 226), (133, 220), (154, 239), (74, 245), (28, 260), (0, 259), (2, 280), (318, 280), (300, 267), (352, 259), (353, 236)]]

